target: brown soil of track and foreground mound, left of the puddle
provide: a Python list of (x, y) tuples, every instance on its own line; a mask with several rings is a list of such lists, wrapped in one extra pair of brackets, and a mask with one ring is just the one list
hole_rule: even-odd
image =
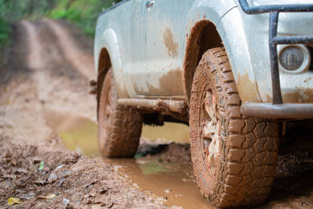
[[(65, 38), (78, 36), (70, 32), (73, 26), (53, 20), (15, 24), (15, 43), (1, 65), (6, 77), (0, 85), (0, 208), (166, 208), (164, 198), (132, 187), (111, 165), (66, 150), (48, 126), (47, 110), (96, 121), (89, 77), (73, 65), (88, 50), (73, 44), (74, 38), (65, 50), (56, 27)], [(75, 56), (64, 55), (71, 50)], [(92, 60), (87, 64), (93, 66)], [(93, 76), (94, 69), (87, 70)], [(49, 193), (56, 197), (40, 199)], [(24, 202), (7, 205), (10, 197)]]

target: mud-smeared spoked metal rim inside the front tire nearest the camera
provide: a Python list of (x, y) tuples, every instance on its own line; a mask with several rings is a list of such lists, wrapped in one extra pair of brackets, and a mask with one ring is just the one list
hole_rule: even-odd
[(217, 119), (216, 97), (209, 89), (204, 92), (205, 98), (202, 102), (202, 133), (201, 133), (201, 147), (202, 156), (206, 169), (209, 173), (216, 172), (216, 158), (219, 154), (219, 126)]

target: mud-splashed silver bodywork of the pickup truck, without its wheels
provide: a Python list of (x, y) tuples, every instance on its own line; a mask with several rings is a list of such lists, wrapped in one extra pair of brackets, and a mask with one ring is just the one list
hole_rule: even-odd
[[(251, 0), (251, 6), (273, 1)], [(279, 0), (275, 4), (312, 0)], [(193, 31), (201, 23), (216, 27), (226, 48), (242, 102), (272, 102), (269, 14), (245, 14), (237, 0), (130, 0), (99, 15), (94, 57), (110, 58), (120, 98), (189, 100), (189, 57)], [(312, 35), (311, 12), (280, 13), (278, 35)], [(210, 38), (208, 37), (208, 41)], [(307, 45), (299, 45), (304, 64), (296, 71), (279, 66), (285, 103), (313, 103), (313, 69)], [(310, 46), (313, 47), (313, 46)], [(191, 47), (192, 48), (192, 47)], [(283, 46), (278, 47), (278, 53)]]

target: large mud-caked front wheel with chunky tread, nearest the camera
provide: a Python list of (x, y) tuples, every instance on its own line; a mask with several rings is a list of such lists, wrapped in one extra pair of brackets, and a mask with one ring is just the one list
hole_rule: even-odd
[(273, 183), (278, 124), (244, 117), (240, 105), (225, 49), (208, 50), (194, 75), (189, 124), (196, 181), (215, 207), (261, 204)]

